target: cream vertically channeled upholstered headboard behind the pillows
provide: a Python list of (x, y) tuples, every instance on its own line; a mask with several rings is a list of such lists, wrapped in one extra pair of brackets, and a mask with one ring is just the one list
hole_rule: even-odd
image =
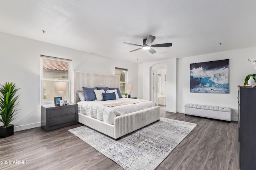
[(76, 96), (76, 92), (83, 92), (82, 87), (110, 87), (110, 88), (120, 88), (120, 76), (110, 75), (110, 74), (99, 74), (91, 72), (79, 72), (73, 71), (73, 98), (72, 102), (79, 102), (79, 98)]

